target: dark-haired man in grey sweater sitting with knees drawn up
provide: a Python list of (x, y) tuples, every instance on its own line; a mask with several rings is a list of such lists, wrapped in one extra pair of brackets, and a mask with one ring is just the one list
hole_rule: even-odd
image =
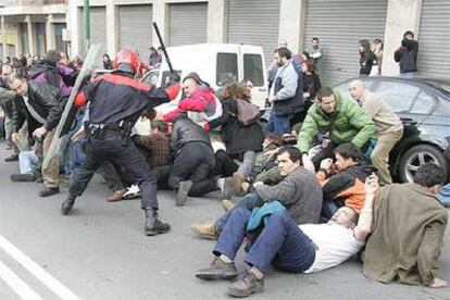
[(217, 239), (233, 211), (245, 209), (251, 212), (273, 201), (279, 201), (297, 224), (317, 223), (322, 208), (322, 188), (317, 178), (301, 166), (300, 152), (292, 146), (279, 149), (277, 161), (279, 173), (286, 176), (279, 184), (267, 186), (261, 182), (254, 183), (254, 191), (246, 195), (214, 224), (192, 224), (191, 230), (201, 238)]

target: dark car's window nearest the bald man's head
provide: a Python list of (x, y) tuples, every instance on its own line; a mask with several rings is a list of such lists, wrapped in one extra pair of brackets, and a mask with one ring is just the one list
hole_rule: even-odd
[(409, 112), (420, 91), (416, 86), (393, 82), (382, 82), (376, 90), (396, 113)]

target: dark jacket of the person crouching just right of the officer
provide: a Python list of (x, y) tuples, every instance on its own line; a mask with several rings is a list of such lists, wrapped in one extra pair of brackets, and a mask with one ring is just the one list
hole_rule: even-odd
[(177, 120), (171, 137), (172, 150), (176, 153), (183, 146), (191, 141), (201, 141), (211, 147), (210, 136), (202, 127), (187, 117)]

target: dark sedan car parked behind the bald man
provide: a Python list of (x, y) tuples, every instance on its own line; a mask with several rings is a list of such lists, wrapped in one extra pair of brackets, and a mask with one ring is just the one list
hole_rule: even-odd
[[(351, 80), (336, 86), (335, 91), (351, 99)], [(362, 80), (368, 90), (382, 96), (403, 122), (403, 137), (389, 159), (391, 173), (398, 180), (412, 182), (415, 171), (428, 162), (443, 167), (450, 177), (450, 163), (443, 157), (443, 150), (450, 145), (450, 82), (382, 76)]]

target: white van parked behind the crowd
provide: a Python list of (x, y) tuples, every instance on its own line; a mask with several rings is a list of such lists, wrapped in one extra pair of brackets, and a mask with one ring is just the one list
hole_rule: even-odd
[[(252, 102), (264, 109), (267, 97), (267, 75), (264, 54), (261, 47), (234, 43), (197, 43), (168, 47), (172, 66), (183, 79), (190, 72), (197, 72), (200, 78), (214, 90), (225, 86), (228, 80), (253, 83)], [(168, 79), (168, 66), (163, 60), (159, 68), (148, 72), (141, 82), (161, 87)]]

